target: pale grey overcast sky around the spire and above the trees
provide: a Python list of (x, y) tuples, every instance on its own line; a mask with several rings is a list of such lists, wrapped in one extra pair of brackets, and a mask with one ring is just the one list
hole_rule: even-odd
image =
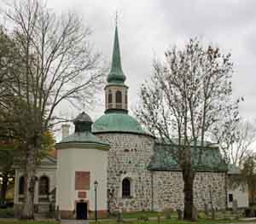
[[(254, 0), (49, 0), (58, 12), (76, 10), (84, 25), (93, 31), (96, 49), (110, 61), (113, 50), (115, 11), (119, 12), (119, 42), (122, 65), (129, 89), (130, 107), (138, 101), (140, 85), (150, 77), (154, 57), (189, 37), (231, 52), (235, 63), (233, 88), (242, 95), (241, 115), (256, 113), (256, 1)], [(103, 96), (103, 90), (102, 90)], [(100, 105), (90, 112), (96, 119), (104, 111)], [(75, 116), (76, 114), (73, 114)]]

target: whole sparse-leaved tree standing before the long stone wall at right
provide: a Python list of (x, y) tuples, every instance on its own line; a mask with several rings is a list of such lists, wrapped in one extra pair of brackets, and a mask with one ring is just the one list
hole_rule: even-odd
[(137, 118), (170, 145), (168, 151), (182, 169), (187, 220), (192, 219), (195, 173), (204, 147), (210, 145), (207, 140), (238, 120), (238, 102), (231, 101), (232, 68), (230, 54), (191, 39), (184, 49), (167, 50), (163, 63), (154, 61), (151, 81), (141, 89)]

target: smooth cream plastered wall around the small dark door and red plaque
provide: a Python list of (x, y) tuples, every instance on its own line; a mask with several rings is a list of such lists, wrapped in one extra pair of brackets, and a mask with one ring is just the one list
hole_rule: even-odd
[[(97, 210), (107, 207), (108, 151), (86, 148), (58, 150), (56, 206), (59, 210), (75, 210), (80, 199), (89, 201), (88, 210), (95, 210), (95, 188), (97, 187)], [(90, 172), (90, 190), (75, 190), (75, 172)], [(78, 198), (78, 192), (86, 192), (86, 198)]]

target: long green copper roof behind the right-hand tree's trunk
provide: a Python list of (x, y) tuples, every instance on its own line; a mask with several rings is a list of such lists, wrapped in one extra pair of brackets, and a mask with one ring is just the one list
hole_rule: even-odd
[[(170, 147), (175, 148), (175, 145), (154, 145), (154, 156), (148, 165), (149, 170), (181, 170), (177, 165), (177, 161), (172, 157), (172, 153), (170, 153)], [(193, 160), (195, 161), (195, 159), (198, 159), (198, 154), (201, 152), (201, 147), (196, 147), (195, 149), (191, 150), (193, 150), (192, 164), (194, 164)], [(202, 149), (202, 162), (196, 166), (194, 164), (194, 168), (197, 171), (224, 172), (227, 170), (227, 166), (224, 164), (224, 161), (221, 158), (218, 147), (204, 147)]]

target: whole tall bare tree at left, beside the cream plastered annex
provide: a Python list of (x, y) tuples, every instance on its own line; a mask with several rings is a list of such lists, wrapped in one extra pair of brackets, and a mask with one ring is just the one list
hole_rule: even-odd
[(2, 128), (13, 129), (22, 143), (26, 184), (21, 216), (31, 219), (42, 135), (59, 123), (55, 110), (63, 101), (90, 104), (102, 84), (102, 60), (76, 14), (57, 15), (41, 0), (20, 0), (10, 5), (7, 17), (14, 27), (9, 31), (15, 43), (12, 56), (20, 60), (18, 70), (5, 73)]

